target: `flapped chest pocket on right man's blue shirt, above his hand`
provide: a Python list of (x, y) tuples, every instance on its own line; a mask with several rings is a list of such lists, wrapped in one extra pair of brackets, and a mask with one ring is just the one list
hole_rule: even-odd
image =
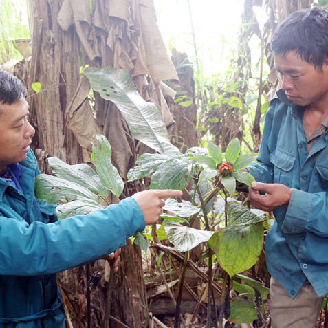
[(274, 183), (285, 184), (292, 187), (292, 168), (296, 160), (296, 155), (288, 153), (276, 147), (270, 154), (270, 162), (274, 164)]

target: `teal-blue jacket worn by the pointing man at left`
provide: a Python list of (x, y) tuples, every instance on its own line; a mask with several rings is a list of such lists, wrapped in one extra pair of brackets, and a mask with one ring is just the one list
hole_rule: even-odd
[(56, 272), (109, 254), (144, 229), (131, 197), (90, 215), (57, 221), (56, 206), (34, 196), (32, 151), (20, 163), (23, 192), (0, 179), (0, 328), (65, 327)]

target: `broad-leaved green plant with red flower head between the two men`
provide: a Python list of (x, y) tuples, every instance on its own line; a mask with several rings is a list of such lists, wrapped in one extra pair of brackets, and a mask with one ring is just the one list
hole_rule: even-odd
[[(160, 241), (168, 239), (178, 252), (185, 252), (185, 262), (180, 276), (175, 327), (179, 327), (179, 304), (184, 281), (184, 272), (188, 263), (189, 252), (199, 243), (208, 243), (209, 261), (209, 301), (208, 312), (212, 308), (212, 253), (219, 265), (225, 270), (223, 274), (222, 305), (220, 313), (226, 319), (230, 317), (230, 278), (252, 267), (261, 254), (263, 245), (263, 217), (252, 213), (237, 201), (228, 201), (228, 195), (235, 194), (236, 182), (250, 185), (254, 178), (242, 169), (256, 157), (254, 153), (239, 155), (241, 151), (238, 139), (233, 139), (222, 153), (219, 147), (208, 142), (208, 149), (194, 147), (186, 153), (171, 152), (164, 154), (146, 153), (138, 159), (137, 166), (128, 173), (129, 181), (144, 179), (151, 175), (151, 188), (185, 189), (191, 201), (178, 203), (171, 199), (166, 202), (164, 210), (176, 217), (162, 215), (163, 222), (157, 229)], [(190, 182), (194, 187), (188, 190)], [(189, 188), (190, 189), (190, 188)], [(204, 191), (206, 190), (206, 191)], [(224, 223), (215, 216), (213, 199), (223, 197), (225, 203)], [(197, 203), (197, 204), (196, 204)], [(204, 229), (192, 228), (196, 217), (203, 222)], [(212, 217), (212, 221), (210, 220)], [(219, 221), (219, 222), (217, 222)], [(217, 226), (217, 229), (213, 229)], [(237, 284), (237, 283), (236, 283)], [(258, 317), (256, 305), (251, 300), (238, 298), (234, 300), (231, 316), (235, 322), (248, 322), (249, 318)], [(263, 295), (265, 299), (265, 295)], [(238, 312), (236, 305), (243, 304), (243, 311)], [(252, 306), (250, 306), (252, 305)], [(237, 314), (238, 312), (238, 314)], [(211, 320), (208, 320), (208, 327)]]

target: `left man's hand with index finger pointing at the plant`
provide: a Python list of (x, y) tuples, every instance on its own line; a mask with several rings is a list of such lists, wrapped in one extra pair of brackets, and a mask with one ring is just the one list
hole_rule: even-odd
[(181, 190), (144, 190), (132, 196), (144, 213), (146, 224), (153, 224), (160, 219), (166, 197), (182, 197)]

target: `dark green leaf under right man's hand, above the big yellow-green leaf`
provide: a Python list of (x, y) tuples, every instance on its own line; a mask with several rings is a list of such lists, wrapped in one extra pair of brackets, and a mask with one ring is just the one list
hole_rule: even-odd
[(263, 221), (262, 216), (255, 215), (243, 204), (237, 203), (237, 201), (230, 201), (226, 206), (226, 210), (230, 225), (241, 226)]

